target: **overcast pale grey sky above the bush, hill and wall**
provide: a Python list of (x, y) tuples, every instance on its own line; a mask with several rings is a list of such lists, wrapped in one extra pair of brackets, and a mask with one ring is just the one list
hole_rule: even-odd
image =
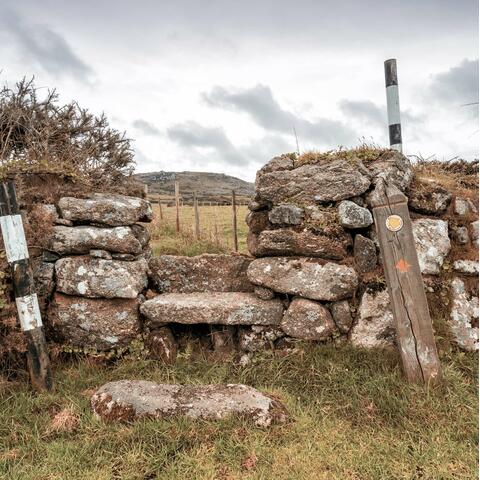
[(477, 0), (0, 0), (2, 83), (104, 111), (137, 170), (253, 180), (272, 156), (388, 143), (397, 58), (404, 150), (478, 157)]

